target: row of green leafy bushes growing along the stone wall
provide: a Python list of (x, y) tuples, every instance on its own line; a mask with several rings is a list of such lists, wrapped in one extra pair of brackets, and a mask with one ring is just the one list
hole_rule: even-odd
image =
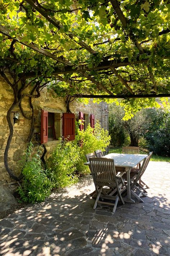
[(20, 200), (24, 202), (43, 201), (50, 195), (52, 188), (72, 185), (78, 177), (89, 173), (85, 154), (97, 149), (105, 151), (109, 146), (110, 136), (107, 130), (95, 125), (95, 129), (88, 125), (85, 131), (77, 129), (74, 141), (59, 140), (46, 163), (46, 170), (42, 167), (39, 152), (32, 155), (33, 144), (28, 145), (25, 154), (26, 162), (22, 168), (23, 182), (18, 192)]

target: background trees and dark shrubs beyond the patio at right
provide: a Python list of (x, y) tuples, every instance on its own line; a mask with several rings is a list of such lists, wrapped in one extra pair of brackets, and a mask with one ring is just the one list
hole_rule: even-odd
[[(115, 103), (109, 106), (109, 133), (113, 146), (144, 147), (158, 155), (170, 155), (170, 111), (157, 100), (159, 108), (138, 111), (133, 118), (123, 120), (125, 110)], [(128, 137), (130, 142), (128, 143)], [(142, 139), (142, 140), (141, 140)]]

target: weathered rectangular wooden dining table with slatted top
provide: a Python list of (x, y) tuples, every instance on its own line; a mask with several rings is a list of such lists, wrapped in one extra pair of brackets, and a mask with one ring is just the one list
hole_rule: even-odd
[[(123, 171), (127, 174), (127, 197), (123, 197), (123, 200), (128, 203), (135, 203), (135, 201), (131, 198), (130, 191), (130, 171), (137, 164), (141, 163), (147, 155), (138, 155), (138, 154), (119, 154), (119, 153), (111, 153), (103, 156), (104, 158), (114, 159), (115, 168), (117, 171)], [(85, 165), (89, 165), (89, 162), (84, 163)], [(136, 197), (139, 201), (140, 198), (138, 195), (133, 193), (134, 197)]]

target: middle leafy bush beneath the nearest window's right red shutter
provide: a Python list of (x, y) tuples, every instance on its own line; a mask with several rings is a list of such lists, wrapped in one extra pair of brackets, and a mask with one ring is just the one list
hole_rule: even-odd
[(75, 141), (62, 141), (55, 147), (47, 160), (47, 169), (51, 173), (54, 187), (65, 187), (78, 181), (76, 164), (79, 160), (79, 147)]

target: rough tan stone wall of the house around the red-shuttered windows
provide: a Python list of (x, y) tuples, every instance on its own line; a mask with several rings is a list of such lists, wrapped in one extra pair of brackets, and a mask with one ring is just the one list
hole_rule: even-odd
[[(9, 136), (9, 127), (6, 120), (6, 114), (9, 107), (13, 103), (13, 92), (8, 84), (0, 77), (0, 185), (4, 184), (15, 184), (8, 175), (4, 167), (4, 150), (6, 146), (6, 142)], [(35, 98), (32, 100), (33, 106), (35, 109), (35, 133), (40, 134), (41, 129), (41, 109), (47, 110), (49, 112), (62, 113), (66, 112), (66, 104), (63, 98), (56, 98), (56, 94), (53, 91), (48, 91), (44, 88), (41, 92), (41, 97)], [(22, 102), (22, 107), (24, 109), (24, 113), (28, 116), (31, 116), (31, 110), (29, 107), (28, 98), (24, 98)], [(101, 126), (104, 129), (108, 129), (108, 106), (107, 103), (101, 102), (99, 104), (93, 103), (91, 99), (89, 103), (86, 105), (78, 100), (75, 100), (70, 103), (70, 110), (75, 114), (75, 118), (79, 119), (79, 111), (86, 114), (86, 116), (93, 114), (95, 115), (95, 122), (98, 120)], [(20, 160), (23, 156), (23, 151), (26, 149), (27, 137), (30, 129), (30, 120), (24, 118), (17, 107), (14, 109), (14, 112), (19, 112), (20, 117), (14, 125), (14, 134), (12, 138), (12, 143), (10, 145), (9, 153), (8, 153), (8, 163), (9, 167), (13, 170), (15, 175), (19, 175), (20, 172)], [(12, 122), (13, 122), (12, 113)], [(61, 120), (62, 123), (62, 120)], [(61, 125), (62, 130), (62, 125)], [(61, 131), (62, 134), (62, 131)], [(55, 147), (57, 140), (48, 141), (46, 143), (47, 154), (46, 157), (49, 157), (52, 149)], [(35, 142), (36, 144), (36, 142)]]

